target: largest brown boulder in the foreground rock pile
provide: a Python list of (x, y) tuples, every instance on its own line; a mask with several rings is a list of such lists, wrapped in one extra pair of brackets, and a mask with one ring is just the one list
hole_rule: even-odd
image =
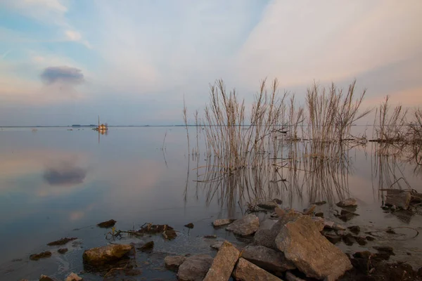
[(319, 233), (309, 216), (300, 216), (283, 226), (276, 246), (286, 259), (307, 277), (337, 280), (352, 268), (347, 256)]

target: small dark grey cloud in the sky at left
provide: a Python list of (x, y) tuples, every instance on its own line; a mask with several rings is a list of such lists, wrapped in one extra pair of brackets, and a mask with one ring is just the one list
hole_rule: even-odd
[(85, 81), (82, 70), (68, 66), (46, 67), (41, 73), (41, 79), (47, 85), (55, 83), (77, 85)]

